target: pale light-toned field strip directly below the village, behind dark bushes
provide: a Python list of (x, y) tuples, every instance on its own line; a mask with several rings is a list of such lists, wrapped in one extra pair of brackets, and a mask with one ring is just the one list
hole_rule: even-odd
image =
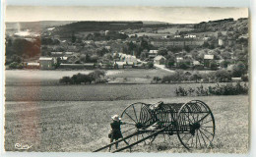
[[(75, 74), (89, 74), (93, 71), (36, 71), (36, 70), (12, 70), (5, 71), (6, 85), (54, 85), (59, 78), (72, 77)], [(106, 78), (152, 78), (168, 75), (168, 72), (160, 70), (108, 70)]]

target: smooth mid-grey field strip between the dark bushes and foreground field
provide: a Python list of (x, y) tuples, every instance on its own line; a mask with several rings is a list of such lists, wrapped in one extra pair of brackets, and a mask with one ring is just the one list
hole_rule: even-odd
[[(200, 83), (184, 84), (89, 84), (56, 86), (6, 86), (7, 101), (105, 101), (168, 98), (176, 96), (176, 87), (196, 87)], [(204, 83), (204, 87), (216, 83)]]

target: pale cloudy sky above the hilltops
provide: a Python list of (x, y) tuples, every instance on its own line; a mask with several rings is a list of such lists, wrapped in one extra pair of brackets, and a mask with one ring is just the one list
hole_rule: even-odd
[(196, 24), (225, 18), (248, 18), (247, 8), (7, 6), (6, 22), (158, 21)]

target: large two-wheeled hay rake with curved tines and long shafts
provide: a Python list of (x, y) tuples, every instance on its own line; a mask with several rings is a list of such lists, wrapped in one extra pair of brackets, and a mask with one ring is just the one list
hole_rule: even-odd
[(177, 134), (186, 149), (202, 149), (209, 147), (216, 131), (211, 109), (200, 100), (187, 103), (160, 101), (156, 104), (137, 102), (126, 107), (120, 117), (127, 124), (121, 126), (124, 137), (94, 152), (126, 140), (129, 145), (113, 151), (119, 152), (139, 143), (151, 144), (160, 139), (165, 141), (173, 134)]

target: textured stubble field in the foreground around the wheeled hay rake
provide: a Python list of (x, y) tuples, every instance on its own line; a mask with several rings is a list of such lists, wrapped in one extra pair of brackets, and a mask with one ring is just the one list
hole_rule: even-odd
[[(5, 149), (29, 144), (29, 151), (92, 151), (107, 144), (110, 116), (134, 102), (206, 102), (216, 119), (216, 137), (209, 149), (193, 152), (245, 153), (248, 150), (248, 96), (172, 97), (119, 101), (41, 101), (5, 104)], [(139, 145), (133, 152), (188, 152), (174, 134), (164, 143)]]

